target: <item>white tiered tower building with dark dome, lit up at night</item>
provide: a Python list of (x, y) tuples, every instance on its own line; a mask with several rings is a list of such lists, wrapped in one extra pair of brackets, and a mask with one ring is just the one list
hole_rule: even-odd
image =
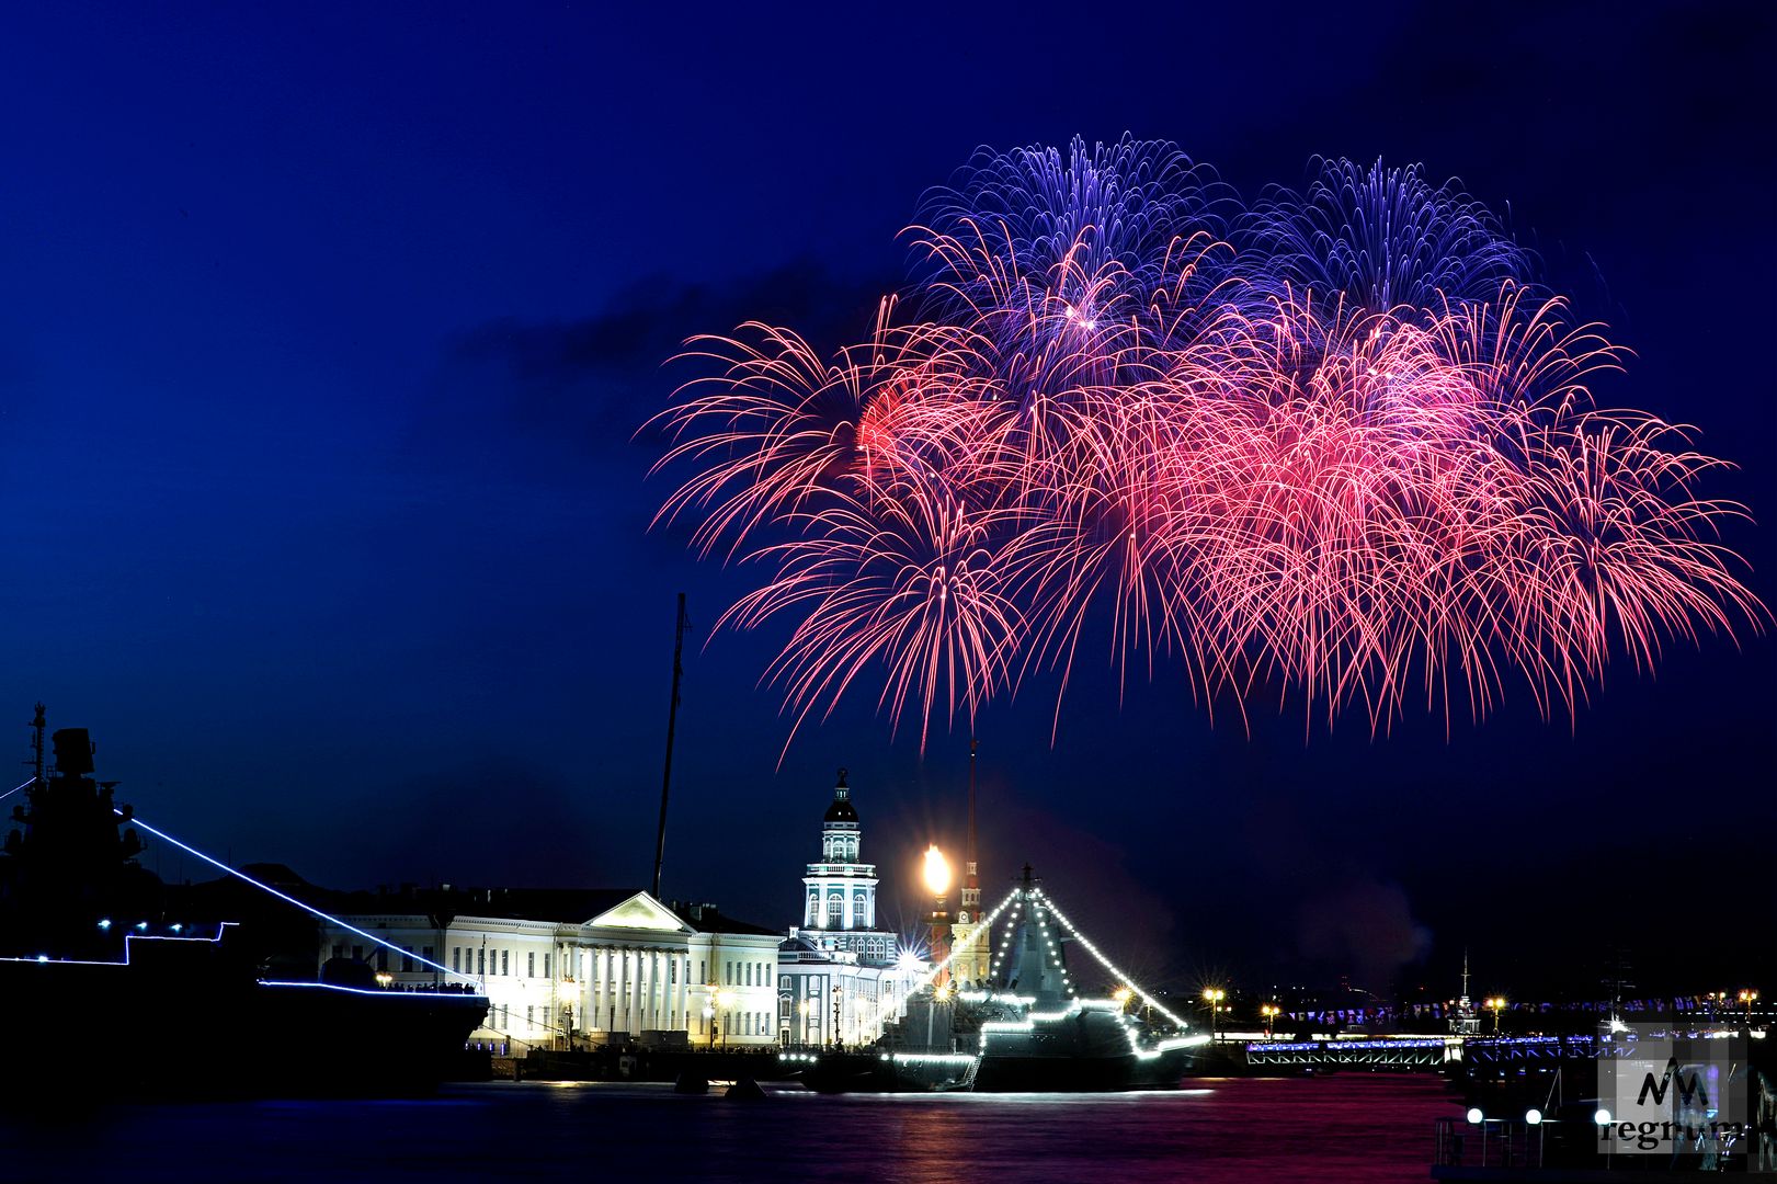
[(778, 946), (777, 1024), (787, 1045), (871, 1044), (899, 1019), (926, 964), (876, 928), (876, 866), (860, 862), (864, 830), (846, 770), (821, 820), (821, 859), (803, 876), (801, 924)]

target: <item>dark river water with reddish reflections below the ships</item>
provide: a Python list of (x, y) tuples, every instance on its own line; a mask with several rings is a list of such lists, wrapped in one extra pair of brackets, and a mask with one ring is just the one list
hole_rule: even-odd
[(844, 1095), (489, 1083), (414, 1102), (39, 1108), (0, 1180), (1414, 1180), (1436, 1077), (1192, 1081), (1164, 1093)]

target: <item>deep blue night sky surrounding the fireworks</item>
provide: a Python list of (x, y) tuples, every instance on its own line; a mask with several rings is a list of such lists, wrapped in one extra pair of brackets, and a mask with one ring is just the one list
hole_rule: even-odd
[[(0, 708), (91, 727), (181, 837), (336, 887), (643, 885), (800, 919), (833, 770), (881, 916), (958, 846), (967, 727), (805, 729), (748, 572), (649, 532), (661, 363), (743, 318), (837, 345), (977, 144), (1171, 139), (1247, 196), (1423, 162), (1635, 350), (1599, 402), (1697, 425), (1777, 604), (1777, 36), (1749, 5), (39, 5), (0, 37)], [(1777, 987), (1777, 645), (1619, 661), (1576, 722), (1299, 697), (1210, 727), (1109, 661), (979, 720), (983, 878), (1031, 860), (1189, 985)], [(9, 718), (0, 711), (0, 718)], [(4, 786), (0, 786), (4, 788)], [(190, 860), (149, 853), (167, 878)], [(1560, 955), (1560, 956), (1553, 956)]]

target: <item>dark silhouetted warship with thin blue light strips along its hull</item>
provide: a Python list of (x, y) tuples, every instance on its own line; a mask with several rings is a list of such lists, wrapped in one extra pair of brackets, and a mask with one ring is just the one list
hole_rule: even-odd
[(0, 997), (43, 1038), (0, 1088), (389, 1093), (435, 1086), (462, 1054), (482, 994), (386, 990), (363, 965), (316, 978), (313, 944), (306, 978), (268, 972), (263, 932), (201, 916), (137, 862), (139, 830), (160, 832), (92, 779), (87, 731), (55, 732), (44, 775), (41, 704), (32, 729), (34, 775), (4, 795), (25, 802), (0, 855)]

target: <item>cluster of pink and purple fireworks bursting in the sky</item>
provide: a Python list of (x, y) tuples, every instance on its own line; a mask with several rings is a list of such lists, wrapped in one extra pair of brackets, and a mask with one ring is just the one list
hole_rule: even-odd
[(759, 569), (796, 727), (848, 693), (972, 718), (1077, 661), (1299, 697), (1574, 713), (1614, 654), (1761, 628), (1702, 500), (1722, 460), (1601, 409), (1624, 350), (1418, 169), (1320, 162), (1251, 206), (1176, 148), (979, 151), (865, 340), (695, 338), (657, 523)]

